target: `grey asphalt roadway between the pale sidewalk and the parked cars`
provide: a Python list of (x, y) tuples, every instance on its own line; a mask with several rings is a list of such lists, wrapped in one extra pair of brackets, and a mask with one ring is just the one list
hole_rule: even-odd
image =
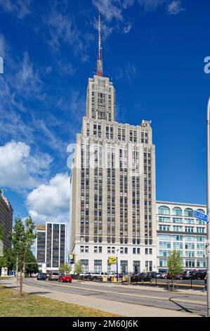
[(186, 311), (199, 316), (206, 315), (206, 296), (198, 296), (196, 294), (175, 294), (167, 291), (156, 292), (150, 289), (143, 289), (143, 287), (136, 289), (135, 285), (133, 289), (125, 285), (104, 286), (103, 284), (96, 285), (93, 282), (73, 281), (72, 283), (60, 283), (57, 281), (48, 282), (48, 280), (37, 281), (34, 278), (26, 278), (24, 282), (33, 287), (116, 301), (116, 304), (119, 301)]

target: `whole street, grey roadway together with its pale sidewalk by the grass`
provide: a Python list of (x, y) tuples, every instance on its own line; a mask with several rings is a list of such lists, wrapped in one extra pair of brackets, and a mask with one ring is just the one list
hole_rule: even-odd
[[(4, 280), (1, 284), (15, 287), (15, 280)], [(94, 306), (104, 311), (121, 313), (124, 316), (131, 316), (131, 312), (128, 311), (129, 307), (133, 311), (133, 316), (159, 316), (161, 314), (160, 316), (190, 317), (206, 315), (206, 294), (198, 291), (192, 293), (190, 290), (180, 290), (173, 293), (166, 289), (142, 288), (138, 285), (130, 287), (120, 284), (84, 283), (77, 280), (74, 280), (72, 284), (60, 284), (55, 281), (48, 282), (48, 280), (37, 281), (34, 278), (24, 280), (24, 291), (43, 294), (60, 301), (66, 301), (67, 297), (67, 302)]]

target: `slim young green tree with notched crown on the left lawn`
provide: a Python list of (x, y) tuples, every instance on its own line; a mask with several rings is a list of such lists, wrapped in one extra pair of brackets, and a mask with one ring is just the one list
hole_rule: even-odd
[(31, 217), (25, 220), (25, 225), (22, 223), (21, 218), (15, 218), (15, 225), (10, 235), (15, 256), (18, 258), (18, 265), (20, 266), (20, 296), (22, 296), (22, 271), (25, 255), (37, 237), (37, 233), (34, 232), (35, 227)]

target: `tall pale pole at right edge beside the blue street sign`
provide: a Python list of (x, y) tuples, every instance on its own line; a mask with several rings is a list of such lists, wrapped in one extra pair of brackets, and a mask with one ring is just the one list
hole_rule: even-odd
[[(207, 187), (206, 187), (206, 200), (207, 200), (207, 215), (210, 220), (210, 97), (207, 106)], [(206, 240), (206, 280), (207, 280), (207, 316), (210, 317), (210, 224), (207, 223), (207, 240)]]

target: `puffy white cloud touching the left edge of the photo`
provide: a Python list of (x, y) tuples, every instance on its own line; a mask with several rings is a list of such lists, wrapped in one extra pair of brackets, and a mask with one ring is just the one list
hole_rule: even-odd
[(52, 159), (48, 154), (30, 154), (23, 142), (8, 142), (0, 146), (0, 186), (14, 190), (32, 189), (48, 175)]

